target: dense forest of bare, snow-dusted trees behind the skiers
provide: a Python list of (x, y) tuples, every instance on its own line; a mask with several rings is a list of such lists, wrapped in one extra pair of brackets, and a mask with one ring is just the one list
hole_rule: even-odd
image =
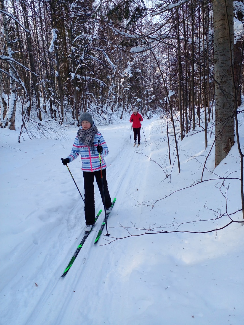
[[(231, 109), (216, 134), (228, 119), (234, 136), (244, 42), (233, 17), (243, 25), (243, 16), (243, 0), (0, 0), (0, 126), (15, 129), (17, 101), (21, 130), (48, 119), (78, 125), (86, 110), (113, 123), (114, 112), (122, 119), (136, 106), (148, 118), (177, 118), (181, 139), (200, 126), (207, 147), (213, 103), (221, 112), (223, 97)], [(222, 75), (221, 42), (228, 49)], [(223, 141), (228, 149), (220, 151), (228, 151), (234, 139)]]

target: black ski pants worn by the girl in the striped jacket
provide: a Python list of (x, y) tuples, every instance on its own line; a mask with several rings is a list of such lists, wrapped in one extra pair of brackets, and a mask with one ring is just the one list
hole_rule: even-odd
[(101, 194), (102, 202), (102, 179), (103, 179), (103, 188), (104, 188), (104, 197), (105, 197), (105, 206), (106, 209), (110, 208), (112, 205), (111, 198), (108, 191), (108, 183), (106, 179), (106, 168), (96, 172), (83, 172), (84, 177), (84, 189), (85, 189), (85, 219), (86, 225), (93, 225), (95, 221), (95, 199), (94, 199), (94, 176)]

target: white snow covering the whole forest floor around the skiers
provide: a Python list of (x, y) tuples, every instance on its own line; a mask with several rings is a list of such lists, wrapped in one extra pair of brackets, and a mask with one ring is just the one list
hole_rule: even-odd
[[(213, 149), (203, 172), (214, 138), (209, 134), (205, 150), (204, 133), (193, 131), (178, 142), (179, 173), (173, 133), (170, 165), (164, 122), (142, 125), (146, 142), (141, 131), (139, 148), (133, 136), (129, 143), (129, 122), (98, 126), (110, 151), (109, 191), (117, 198), (111, 236), (104, 229), (93, 245), (101, 214), (63, 278), (85, 229), (84, 203), (60, 161), (77, 129), (63, 131), (61, 140), (20, 143), (18, 131), (0, 129), (1, 325), (243, 323), (244, 227), (194, 233), (229, 223), (217, 219), (226, 210), (242, 221), (241, 212), (232, 215), (241, 209), (237, 144), (215, 169)], [(240, 134), (243, 143), (243, 128)], [(79, 158), (69, 164), (83, 195), (80, 167)], [(95, 201), (99, 211), (97, 186)]]

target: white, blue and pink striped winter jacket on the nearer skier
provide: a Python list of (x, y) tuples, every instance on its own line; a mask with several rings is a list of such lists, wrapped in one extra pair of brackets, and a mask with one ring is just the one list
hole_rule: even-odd
[(96, 150), (95, 154), (92, 153), (91, 149), (88, 146), (84, 146), (76, 136), (71, 153), (67, 158), (73, 162), (73, 160), (75, 160), (80, 154), (81, 169), (84, 172), (95, 172), (97, 170), (100, 170), (99, 154), (97, 152), (98, 141), (100, 141), (100, 146), (102, 146), (103, 149), (101, 154), (102, 169), (107, 168), (104, 157), (108, 155), (108, 147), (103, 139), (102, 134), (99, 131), (95, 134), (94, 137), (94, 147)]

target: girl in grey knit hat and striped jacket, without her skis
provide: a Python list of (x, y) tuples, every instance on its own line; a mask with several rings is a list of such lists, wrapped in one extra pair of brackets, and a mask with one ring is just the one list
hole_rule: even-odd
[[(79, 154), (81, 156), (81, 169), (83, 171), (85, 189), (85, 219), (86, 231), (90, 231), (95, 222), (95, 200), (94, 200), (94, 177), (102, 197), (102, 180), (105, 197), (106, 213), (111, 211), (111, 198), (106, 180), (106, 162), (104, 157), (108, 155), (108, 147), (102, 134), (98, 131), (91, 115), (87, 112), (80, 116), (81, 126), (78, 129), (73, 148), (70, 155), (61, 159), (63, 165), (75, 160)], [(99, 153), (102, 159), (102, 177)]]

